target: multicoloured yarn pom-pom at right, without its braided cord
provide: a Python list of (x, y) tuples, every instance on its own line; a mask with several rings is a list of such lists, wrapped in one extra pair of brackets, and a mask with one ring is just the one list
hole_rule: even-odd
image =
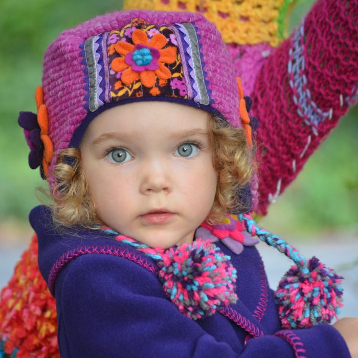
[(317, 257), (304, 267), (292, 266), (276, 291), (282, 327), (307, 328), (337, 318), (343, 306), (342, 278)]

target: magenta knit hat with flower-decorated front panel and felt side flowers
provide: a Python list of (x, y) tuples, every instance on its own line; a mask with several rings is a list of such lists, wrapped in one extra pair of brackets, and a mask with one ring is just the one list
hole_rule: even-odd
[(21, 112), (19, 124), (31, 149), (30, 167), (40, 166), (53, 186), (58, 153), (79, 147), (88, 124), (105, 109), (170, 101), (239, 127), (240, 94), (221, 35), (204, 16), (119, 11), (65, 30), (50, 44), (35, 96), (37, 116)]

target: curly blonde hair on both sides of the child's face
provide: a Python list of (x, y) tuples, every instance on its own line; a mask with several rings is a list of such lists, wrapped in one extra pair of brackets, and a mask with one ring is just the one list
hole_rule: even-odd
[[(221, 222), (227, 212), (242, 209), (237, 192), (250, 182), (253, 174), (253, 155), (242, 128), (228, 125), (210, 115), (208, 135), (213, 148), (213, 166), (218, 174), (215, 199), (207, 221)], [(96, 215), (95, 203), (89, 194), (81, 167), (80, 148), (62, 150), (54, 167), (57, 185), (47, 195), (53, 204), (54, 222), (65, 227), (82, 225), (94, 228), (103, 225)], [(40, 189), (41, 192), (43, 190)]]

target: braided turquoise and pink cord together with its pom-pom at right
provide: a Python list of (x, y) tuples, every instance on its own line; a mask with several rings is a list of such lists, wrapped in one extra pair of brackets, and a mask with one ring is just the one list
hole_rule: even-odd
[(274, 247), (292, 259), (293, 265), (279, 282), (275, 292), (283, 328), (308, 328), (330, 323), (343, 306), (343, 277), (326, 267), (316, 257), (306, 260), (285, 240), (259, 227), (248, 214), (238, 219), (252, 236)]

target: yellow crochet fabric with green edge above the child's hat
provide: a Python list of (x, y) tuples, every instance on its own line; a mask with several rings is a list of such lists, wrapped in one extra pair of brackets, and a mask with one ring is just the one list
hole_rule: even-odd
[(237, 44), (268, 42), (278, 46), (285, 19), (296, 0), (124, 0), (124, 9), (201, 12)]

